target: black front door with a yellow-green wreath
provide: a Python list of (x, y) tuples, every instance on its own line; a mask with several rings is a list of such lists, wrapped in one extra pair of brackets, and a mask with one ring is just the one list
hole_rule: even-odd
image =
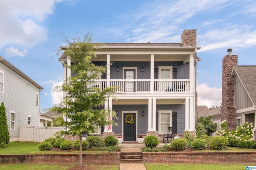
[[(132, 117), (133, 116), (133, 120)], [(136, 141), (136, 114), (124, 113), (124, 141)]]

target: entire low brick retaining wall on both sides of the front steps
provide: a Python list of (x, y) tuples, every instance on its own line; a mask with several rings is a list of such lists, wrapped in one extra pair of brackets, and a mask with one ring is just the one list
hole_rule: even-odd
[[(256, 151), (247, 152), (142, 152), (148, 164), (256, 164)], [(63, 163), (79, 164), (78, 153), (5, 154), (0, 164)], [(120, 152), (84, 153), (84, 164), (120, 164)]]

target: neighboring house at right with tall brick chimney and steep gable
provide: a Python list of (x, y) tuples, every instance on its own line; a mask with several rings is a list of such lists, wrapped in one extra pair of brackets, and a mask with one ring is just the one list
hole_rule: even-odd
[(222, 63), (221, 121), (226, 119), (228, 130), (245, 122), (255, 127), (256, 65), (237, 65), (238, 55), (231, 52)]

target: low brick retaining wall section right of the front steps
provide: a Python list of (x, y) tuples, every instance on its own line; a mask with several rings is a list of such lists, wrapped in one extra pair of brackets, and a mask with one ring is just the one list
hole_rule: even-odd
[(148, 164), (256, 164), (256, 152), (142, 152)]

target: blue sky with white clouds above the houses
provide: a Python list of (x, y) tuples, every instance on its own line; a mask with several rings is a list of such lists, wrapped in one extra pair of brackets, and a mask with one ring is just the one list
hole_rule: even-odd
[(90, 32), (95, 42), (180, 43), (197, 30), (198, 105), (220, 106), (222, 58), (256, 65), (255, 0), (0, 0), (0, 55), (39, 83), (40, 108), (61, 94), (62, 64), (54, 49)]

